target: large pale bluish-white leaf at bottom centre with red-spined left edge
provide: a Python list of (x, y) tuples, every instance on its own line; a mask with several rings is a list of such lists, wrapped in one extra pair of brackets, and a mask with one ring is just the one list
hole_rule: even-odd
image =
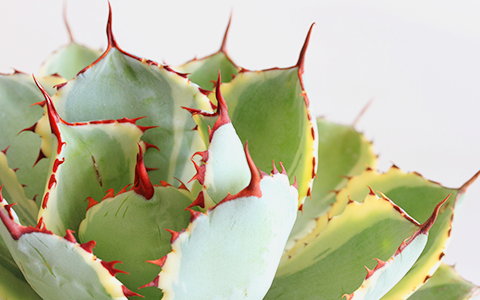
[(187, 229), (172, 234), (172, 252), (152, 282), (162, 299), (262, 299), (268, 291), (295, 222), (298, 193), (285, 174), (260, 179), (247, 158), (249, 186), (207, 213), (191, 211)]

